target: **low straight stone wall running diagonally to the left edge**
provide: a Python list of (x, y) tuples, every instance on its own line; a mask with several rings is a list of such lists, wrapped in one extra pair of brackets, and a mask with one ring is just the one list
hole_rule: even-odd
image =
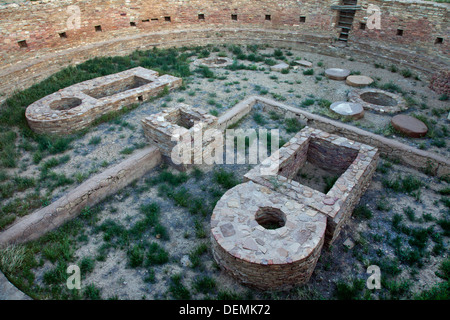
[(137, 152), (118, 165), (83, 182), (51, 205), (18, 220), (0, 233), (0, 246), (39, 238), (74, 218), (84, 208), (96, 205), (139, 179), (160, 162), (161, 154), (155, 147)]

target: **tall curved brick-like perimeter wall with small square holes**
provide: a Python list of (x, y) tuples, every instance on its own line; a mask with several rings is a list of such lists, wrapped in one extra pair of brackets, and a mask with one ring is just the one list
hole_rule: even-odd
[[(6, 2), (0, 100), (67, 65), (153, 46), (269, 43), (371, 63), (387, 59), (424, 74), (450, 65), (450, 5), (431, 1), (358, 0), (345, 48), (336, 41), (339, 11), (332, 8), (342, 0)], [(361, 29), (369, 5), (380, 8), (380, 30)]]

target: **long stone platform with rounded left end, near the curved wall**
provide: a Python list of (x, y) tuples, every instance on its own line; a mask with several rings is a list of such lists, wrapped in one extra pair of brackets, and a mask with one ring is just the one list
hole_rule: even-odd
[(77, 83), (50, 94), (26, 109), (31, 129), (44, 134), (67, 134), (88, 127), (108, 112), (119, 111), (158, 95), (182, 79), (142, 67)]

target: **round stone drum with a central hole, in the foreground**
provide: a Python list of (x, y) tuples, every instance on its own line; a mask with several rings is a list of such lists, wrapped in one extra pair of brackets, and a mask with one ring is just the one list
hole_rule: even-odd
[(228, 190), (211, 217), (213, 255), (241, 283), (286, 290), (306, 283), (324, 242), (326, 216), (252, 181)]

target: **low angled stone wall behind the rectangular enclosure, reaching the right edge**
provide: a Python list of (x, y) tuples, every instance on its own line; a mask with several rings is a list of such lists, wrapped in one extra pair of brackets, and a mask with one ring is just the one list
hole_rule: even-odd
[(231, 108), (219, 117), (219, 125), (224, 126), (226, 124), (226, 126), (230, 126), (238, 122), (246, 115), (246, 110), (250, 112), (251, 108), (256, 103), (261, 103), (263, 105), (263, 111), (277, 111), (283, 114), (286, 118), (295, 117), (310, 127), (321, 129), (353, 141), (374, 146), (378, 148), (380, 154), (388, 156), (392, 159), (398, 159), (403, 165), (412, 167), (416, 170), (423, 170), (427, 168), (428, 170), (431, 170), (431, 174), (436, 175), (437, 177), (443, 177), (450, 174), (449, 159), (436, 153), (419, 150), (401, 142), (300, 110), (298, 108), (290, 107), (283, 103), (261, 96), (251, 96), (241, 101), (235, 107)]

